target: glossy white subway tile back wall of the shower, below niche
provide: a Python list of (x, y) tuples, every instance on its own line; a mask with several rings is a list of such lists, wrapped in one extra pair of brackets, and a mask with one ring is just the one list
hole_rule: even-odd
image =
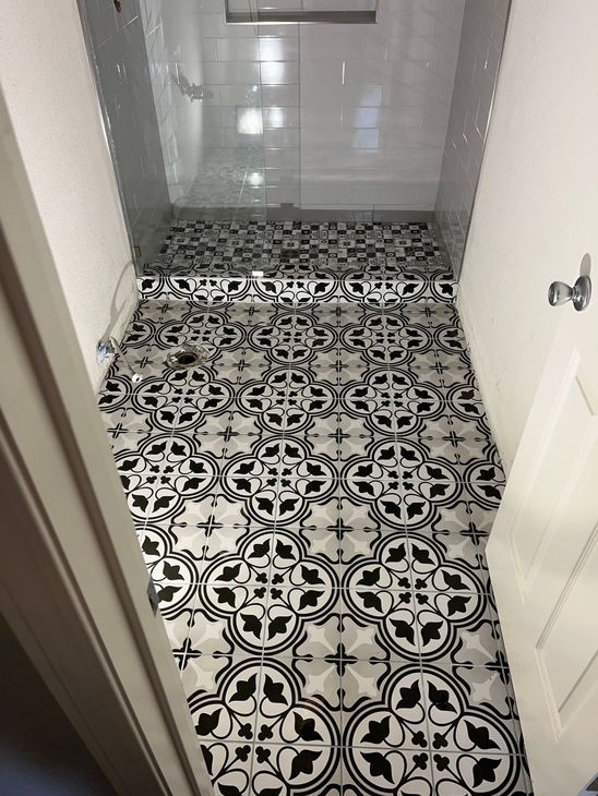
[[(380, 0), (375, 25), (140, 2), (175, 206), (433, 210), (465, 0)], [(238, 132), (239, 106), (263, 109), (262, 134)]]

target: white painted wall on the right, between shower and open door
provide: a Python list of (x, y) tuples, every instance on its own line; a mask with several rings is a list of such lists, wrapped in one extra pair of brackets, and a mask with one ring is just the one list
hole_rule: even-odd
[[(548, 286), (575, 280), (598, 224), (588, 184), (596, 165), (563, 144), (572, 133), (596, 137), (597, 29), (596, 0), (513, 0), (459, 298), (507, 468), (561, 313), (573, 312), (549, 306)], [(572, 207), (577, 222), (564, 225)]]

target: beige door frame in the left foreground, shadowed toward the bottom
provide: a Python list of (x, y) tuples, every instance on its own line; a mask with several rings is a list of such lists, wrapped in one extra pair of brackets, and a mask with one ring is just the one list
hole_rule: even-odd
[(1, 91), (0, 184), (2, 612), (119, 796), (211, 796)]

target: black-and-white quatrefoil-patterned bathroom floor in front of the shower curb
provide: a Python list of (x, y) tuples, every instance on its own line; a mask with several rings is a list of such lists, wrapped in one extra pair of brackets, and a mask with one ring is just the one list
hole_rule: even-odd
[(99, 406), (215, 793), (530, 794), (455, 309), (145, 300), (124, 348)]

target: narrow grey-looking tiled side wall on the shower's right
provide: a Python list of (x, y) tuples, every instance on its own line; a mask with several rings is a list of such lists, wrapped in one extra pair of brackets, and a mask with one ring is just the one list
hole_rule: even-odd
[(435, 219), (458, 276), (483, 145), (510, 0), (466, 0), (453, 105), (442, 161)]

